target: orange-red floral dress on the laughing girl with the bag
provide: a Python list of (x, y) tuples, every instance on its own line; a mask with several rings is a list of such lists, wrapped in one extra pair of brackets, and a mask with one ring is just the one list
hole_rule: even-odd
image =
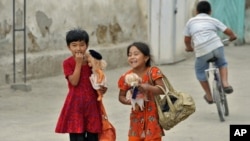
[[(149, 68), (147, 72), (149, 72)], [(132, 73), (132, 70), (124, 73), (118, 80), (119, 89), (124, 91), (130, 89), (125, 83), (125, 76), (129, 73)], [(163, 76), (159, 68), (153, 67), (151, 74), (144, 74), (142, 83), (150, 83), (149, 75), (151, 75), (153, 81)], [(161, 137), (164, 136), (163, 128), (158, 123), (159, 117), (153, 94), (148, 94), (147, 99), (148, 101), (144, 101), (145, 108), (143, 111), (131, 108), (129, 141), (161, 141)]]

